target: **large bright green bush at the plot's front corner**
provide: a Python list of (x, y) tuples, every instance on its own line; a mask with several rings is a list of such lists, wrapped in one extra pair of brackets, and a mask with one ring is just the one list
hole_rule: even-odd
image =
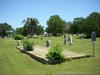
[(46, 54), (46, 57), (48, 59), (51, 59), (51, 60), (63, 60), (64, 59), (64, 55), (62, 54), (62, 51), (63, 50), (59, 45), (54, 46)]

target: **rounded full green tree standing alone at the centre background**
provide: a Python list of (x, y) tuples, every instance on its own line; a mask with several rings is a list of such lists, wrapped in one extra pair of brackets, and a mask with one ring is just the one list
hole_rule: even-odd
[(46, 31), (52, 33), (54, 36), (56, 36), (57, 33), (64, 33), (65, 21), (63, 21), (59, 15), (51, 16), (47, 21), (47, 25), (48, 27)]

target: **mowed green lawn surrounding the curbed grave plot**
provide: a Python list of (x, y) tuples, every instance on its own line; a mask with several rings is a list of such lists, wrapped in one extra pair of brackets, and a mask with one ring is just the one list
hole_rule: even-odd
[[(91, 39), (78, 39), (73, 36), (74, 45), (63, 45), (63, 37), (32, 38), (36, 45), (45, 46), (47, 39), (51, 39), (52, 46), (59, 43), (63, 49), (92, 54)], [(97, 38), (95, 57), (76, 59), (56, 65), (42, 64), (30, 56), (21, 53), (13, 39), (0, 38), (0, 75), (100, 75), (100, 38)]]

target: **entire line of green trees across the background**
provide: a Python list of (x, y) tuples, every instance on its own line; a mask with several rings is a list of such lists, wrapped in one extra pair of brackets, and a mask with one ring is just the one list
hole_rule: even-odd
[(0, 23), (0, 36), (9, 36), (14, 34), (21, 34), (23, 36), (43, 35), (44, 32), (50, 33), (53, 36), (69, 34), (85, 34), (86, 37), (91, 36), (91, 32), (95, 31), (96, 35), (100, 37), (100, 13), (93, 12), (86, 18), (77, 17), (73, 22), (66, 22), (59, 15), (53, 15), (49, 18), (47, 28), (39, 25), (37, 18), (26, 18), (23, 21), (23, 27), (14, 30), (11, 25), (7, 23)]

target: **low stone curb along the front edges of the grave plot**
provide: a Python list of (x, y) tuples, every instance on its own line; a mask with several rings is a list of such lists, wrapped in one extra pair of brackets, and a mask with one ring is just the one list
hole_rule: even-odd
[(65, 60), (54, 61), (54, 60), (46, 59), (40, 55), (36, 55), (35, 53), (30, 53), (30, 51), (24, 51), (23, 48), (21, 48), (21, 46), (17, 46), (16, 48), (19, 49), (22, 53), (25, 53), (25, 54), (31, 56), (32, 58), (36, 59), (37, 61), (39, 61), (43, 64), (56, 64), (56, 63), (61, 63), (66, 60), (70, 60), (70, 59), (80, 59), (80, 58), (90, 57), (90, 55), (83, 55), (83, 56), (76, 56), (76, 57), (68, 57)]

